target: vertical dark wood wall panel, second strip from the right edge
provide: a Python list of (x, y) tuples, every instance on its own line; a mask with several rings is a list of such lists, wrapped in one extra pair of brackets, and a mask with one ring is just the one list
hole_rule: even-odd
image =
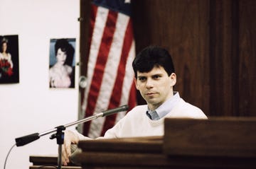
[(210, 115), (238, 115), (236, 1), (210, 1)]

